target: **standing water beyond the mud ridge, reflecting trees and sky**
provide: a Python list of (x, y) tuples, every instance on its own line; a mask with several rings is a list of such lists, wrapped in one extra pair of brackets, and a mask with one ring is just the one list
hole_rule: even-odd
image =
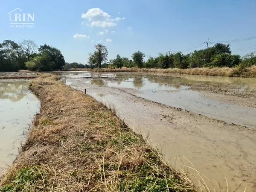
[[(136, 73), (90, 73), (66, 72), (70, 78), (84, 78), (85, 84), (127, 88), (137, 90), (136, 96), (159, 102), (168, 106), (182, 108), (191, 112), (206, 115), (227, 123), (256, 128), (256, 108), (242, 107), (208, 99), (200, 92), (191, 90), (182, 84), (230, 85), (239, 91), (256, 91), (256, 79), (208, 77), (189, 75), (152, 75)], [(93, 77), (96, 79), (86, 79)], [(67, 81), (67, 84), (69, 82)], [(86, 87), (86, 86), (85, 86)]]

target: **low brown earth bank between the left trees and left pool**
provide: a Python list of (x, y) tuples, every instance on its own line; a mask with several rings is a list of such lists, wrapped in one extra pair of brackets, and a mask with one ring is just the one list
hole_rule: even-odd
[(34, 79), (39, 73), (21, 70), (19, 72), (0, 72), (0, 79)]

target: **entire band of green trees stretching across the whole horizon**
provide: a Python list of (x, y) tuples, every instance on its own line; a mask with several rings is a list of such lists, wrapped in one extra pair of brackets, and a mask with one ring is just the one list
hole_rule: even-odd
[(244, 57), (231, 54), (230, 44), (217, 43), (207, 49), (195, 50), (189, 54), (182, 52), (160, 53), (157, 57), (146, 55), (141, 51), (132, 54), (132, 59), (121, 57), (108, 60), (108, 49), (103, 44), (94, 46), (89, 54), (87, 64), (67, 63), (61, 51), (49, 45), (37, 46), (34, 41), (23, 40), (19, 44), (11, 40), (0, 43), (0, 71), (52, 71), (63, 68), (199, 68), (199, 67), (249, 67), (256, 65), (255, 52)]

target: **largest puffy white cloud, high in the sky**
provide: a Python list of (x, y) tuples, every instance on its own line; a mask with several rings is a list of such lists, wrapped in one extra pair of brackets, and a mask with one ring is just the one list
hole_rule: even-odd
[(100, 8), (89, 9), (86, 13), (82, 13), (81, 16), (83, 19), (88, 19), (90, 26), (96, 27), (114, 27), (116, 26), (115, 21), (123, 20), (124, 18), (111, 18), (111, 15), (105, 13)]

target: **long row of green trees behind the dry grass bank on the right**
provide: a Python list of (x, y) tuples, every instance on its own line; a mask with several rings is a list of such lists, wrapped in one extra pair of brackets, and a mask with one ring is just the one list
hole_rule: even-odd
[[(199, 67), (235, 67), (240, 64), (240, 67), (249, 67), (256, 65), (255, 52), (250, 53), (241, 58), (240, 55), (231, 54), (230, 44), (217, 43), (213, 47), (207, 49), (195, 50), (189, 54), (182, 52), (166, 54), (160, 53), (157, 57), (149, 56), (147, 61), (144, 61), (145, 54), (137, 51), (132, 54), (132, 60), (127, 57), (121, 57), (119, 54), (115, 59), (110, 59), (107, 63), (108, 50), (102, 45), (95, 45), (96, 50), (89, 55), (88, 64), (90, 68), (121, 68), (121, 67), (138, 67), (138, 68), (199, 68)], [(103, 59), (101, 58), (101, 54)]]

